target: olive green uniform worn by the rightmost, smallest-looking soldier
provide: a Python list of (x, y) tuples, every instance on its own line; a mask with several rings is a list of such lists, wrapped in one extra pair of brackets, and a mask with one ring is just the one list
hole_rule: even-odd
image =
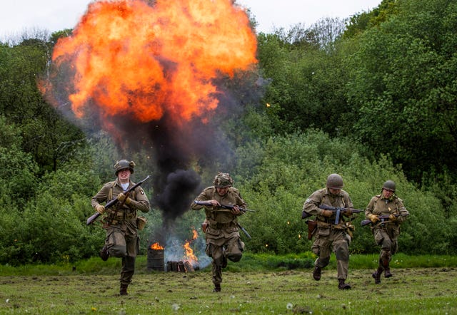
[(370, 215), (402, 215), (397, 217), (395, 221), (380, 221), (371, 227), (376, 244), (381, 246), (379, 267), (385, 268), (388, 267), (388, 262), (391, 261), (392, 255), (398, 251), (400, 225), (406, 220), (409, 212), (403, 205), (403, 200), (396, 197), (396, 195), (392, 195), (386, 199), (381, 194), (372, 197), (370, 202), (368, 202), (365, 217), (368, 219)]

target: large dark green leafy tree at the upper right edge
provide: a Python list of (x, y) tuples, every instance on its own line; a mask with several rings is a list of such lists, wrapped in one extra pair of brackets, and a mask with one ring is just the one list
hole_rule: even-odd
[(348, 59), (356, 135), (416, 181), (441, 165), (457, 171), (455, 11), (453, 1), (398, 1), (398, 15), (363, 33)]

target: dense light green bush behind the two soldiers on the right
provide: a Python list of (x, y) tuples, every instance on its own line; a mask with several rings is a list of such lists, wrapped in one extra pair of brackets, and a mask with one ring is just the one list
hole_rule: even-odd
[[(255, 152), (247, 153), (255, 148)], [(245, 215), (241, 221), (253, 236), (248, 249), (253, 252), (302, 252), (311, 248), (306, 239), (307, 226), (301, 220), (301, 208), (315, 190), (325, 187), (332, 172), (343, 176), (344, 189), (351, 195), (354, 207), (365, 210), (369, 200), (381, 192), (384, 181), (396, 182), (398, 196), (411, 216), (403, 224), (399, 245), (409, 254), (451, 254), (455, 240), (453, 224), (446, 222), (441, 202), (431, 192), (419, 190), (408, 182), (401, 169), (386, 156), (370, 162), (362, 158), (357, 145), (349, 140), (331, 140), (325, 133), (308, 133), (270, 138), (262, 150), (240, 148), (243, 156), (261, 156), (261, 163), (251, 178), (239, 185), (243, 197), (257, 213)], [(240, 168), (243, 168), (240, 161)], [(247, 160), (247, 162), (249, 162)], [(371, 229), (360, 227), (364, 214), (353, 221), (351, 252), (373, 253)], [(455, 223), (454, 223), (455, 224)], [(454, 230), (455, 231), (455, 230)], [(433, 244), (433, 245), (431, 245)]]

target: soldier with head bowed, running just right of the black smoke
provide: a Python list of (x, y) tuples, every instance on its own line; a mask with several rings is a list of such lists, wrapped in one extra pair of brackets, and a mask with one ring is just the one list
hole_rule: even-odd
[[(200, 210), (204, 207), (206, 227), (206, 254), (213, 259), (212, 279), (214, 292), (221, 291), (222, 268), (227, 266), (227, 259), (238, 262), (241, 259), (244, 243), (241, 242), (238, 232), (237, 217), (241, 215), (239, 207), (246, 207), (246, 202), (240, 192), (232, 187), (233, 180), (229, 173), (219, 172), (214, 177), (213, 186), (206, 187), (196, 201), (206, 201), (209, 205), (197, 205), (191, 209)], [(234, 206), (227, 210), (221, 205)]]

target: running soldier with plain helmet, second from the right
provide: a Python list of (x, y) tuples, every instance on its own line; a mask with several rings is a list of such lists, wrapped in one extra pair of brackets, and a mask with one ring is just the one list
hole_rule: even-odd
[[(350, 208), (349, 211), (343, 212), (340, 222), (335, 224), (336, 212), (323, 210), (319, 205), (331, 207)], [(338, 270), (338, 289), (351, 289), (346, 284), (349, 267), (349, 244), (351, 243), (351, 230), (353, 225), (348, 219), (352, 216), (353, 204), (351, 197), (343, 190), (343, 178), (338, 174), (328, 175), (326, 187), (316, 190), (306, 199), (303, 204), (303, 212), (307, 215), (315, 215), (317, 228), (314, 232), (312, 251), (318, 256), (314, 265), (313, 278), (316, 281), (321, 279), (322, 268), (330, 262), (330, 255), (333, 249), (336, 255)]]

